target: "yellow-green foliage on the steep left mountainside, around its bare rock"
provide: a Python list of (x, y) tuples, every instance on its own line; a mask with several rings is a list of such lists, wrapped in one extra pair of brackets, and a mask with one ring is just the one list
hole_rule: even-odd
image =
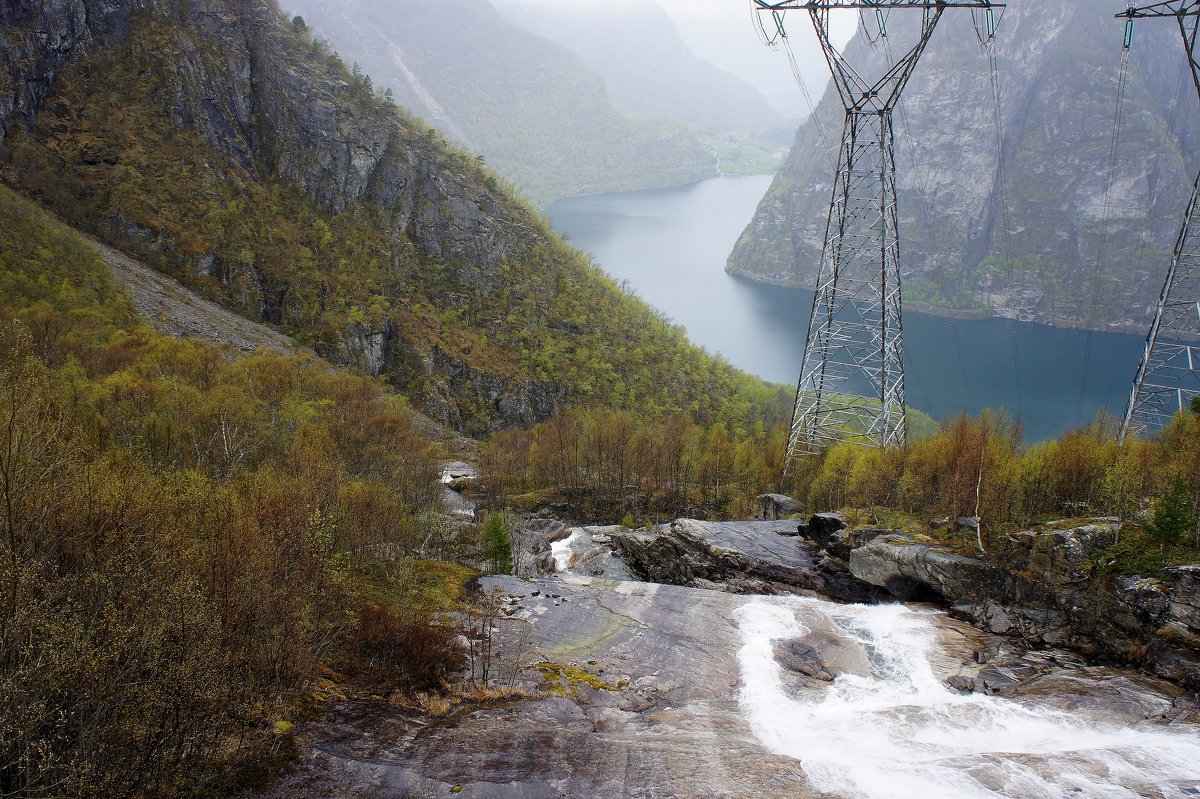
[[(454, 253), (445, 260), (422, 256), (397, 233), (402, 220), (366, 200), (338, 214), (319, 206), (278, 176), (265, 116), (253, 172), (181, 127), (166, 102), (180, 80), (179, 64), (194, 62), (251, 94), (259, 88), (228, 74), (212, 42), (149, 13), (120, 44), (95, 48), (59, 80), (34, 132), (14, 143), (6, 174), (72, 223), (139, 250), (244, 313), (262, 308), (319, 352), (335, 352), (355, 325), (388, 319), (418, 353), (438, 347), (510, 384), (553, 386), (570, 403), (688, 413), (703, 423), (782, 415), (786, 397), (778, 390), (690, 344), (566, 247), (474, 157), (374, 102), (364, 77), (301, 38), (308, 34), (272, 36), (277, 41), (262, 46), (331, 83), (349, 83), (354, 113), (390, 125), (402, 151), (488, 187), (500, 216), (511, 220), (511, 235), (524, 240), (499, 274)], [(211, 264), (211, 275), (198, 274), (202, 263)], [(413, 359), (394, 365), (389, 377), (414, 397), (431, 388)], [(500, 421), (473, 396), (454, 400), (468, 429)]]

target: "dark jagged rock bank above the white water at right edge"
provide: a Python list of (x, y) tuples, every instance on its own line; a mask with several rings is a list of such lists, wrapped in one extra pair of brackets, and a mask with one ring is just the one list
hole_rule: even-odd
[(898, 599), (929, 594), (997, 635), (1138, 663), (1200, 687), (1200, 566), (1154, 578), (1112, 577), (1092, 567), (1117, 524), (1018, 533), (1006, 569), (916, 536), (890, 533), (854, 548), (850, 572)]

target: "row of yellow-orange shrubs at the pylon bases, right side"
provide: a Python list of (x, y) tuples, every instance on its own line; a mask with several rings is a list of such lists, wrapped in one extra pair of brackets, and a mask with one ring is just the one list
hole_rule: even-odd
[[(814, 509), (889, 507), (880, 512), (887, 523), (923, 527), (935, 516), (973, 516), (978, 505), (988, 535), (1062, 517), (1141, 519), (1176, 483), (1200, 511), (1200, 414), (1177, 414), (1152, 440), (1118, 444), (1114, 420), (1102, 415), (1026, 446), (1003, 416), (984, 413), (904, 449), (834, 446), (797, 468), (797, 491)], [(1133, 564), (1133, 542), (1145, 548), (1148, 539), (1136, 528), (1122, 537), (1114, 557)], [(1194, 558), (1198, 543), (1193, 535), (1168, 559)]]

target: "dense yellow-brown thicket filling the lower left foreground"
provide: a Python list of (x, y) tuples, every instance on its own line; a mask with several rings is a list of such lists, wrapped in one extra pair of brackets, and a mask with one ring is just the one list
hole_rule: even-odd
[[(433, 453), (371, 380), (139, 326), (2, 187), (0, 238), (0, 792), (214, 788), (318, 665), (355, 668), (365, 570), (415, 549)], [(419, 686), (451, 649), (407, 596), (370, 619), (425, 645), (392, 669)]]

